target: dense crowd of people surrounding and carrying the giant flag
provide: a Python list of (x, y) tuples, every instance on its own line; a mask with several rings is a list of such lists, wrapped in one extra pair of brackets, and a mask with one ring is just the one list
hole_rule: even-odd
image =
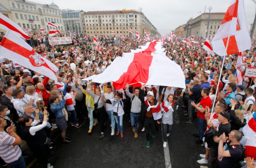
[[(27, 42), (59, 68), (57, 81), (23, 66), (17, 68), (13, 62), (1, 58), (2, 165), (26, 167), (25, 154), (19, 147), (24, 140), (42, 166), (52, 168), (49, 158), (54, 154), (55, 144), (51, 141), (51, 132), (59, 129), (62, 142), (72, 143), (66, 133), (68, 123), (80, 128), (82, 120), (90, 121), (88, 134), (94, 131), (94, 126), (100, 125), (99, 139), (102, 140), (106, 120), (111, 123), (110, 136), (116, 134), (124, 138), (123, 122), (128, 118), (134, 138), (138, 138), (140, 128), (145, 132), (147, 148), (150, 148), (150, 139), (156, 138), (157, 130), (162, 127), (163, 147), (166, 148), (172, 125), (180, 122), (178, 108), (185, 109), (187, 124), (195, 122), (196, 115), (198, 132), (193, 136), (198, 138), (197, 144), (205, 147), (205, 154), (198, 156), (201, 158), (197, 160), (199, 164), (207, 164), (205, 167), (209, 168), (232, 168), (245, 158), (244, 148), (240, 145), (241, 131), (251, 118), (256, 119), (256, 80), (244, 77), (243, 84), (238, 84), (238, 54), (223, 60), (202, 49), (203, 38), (195, 39), (198, 43), (182, 42), (184, 38), (178, 36), (173, 37), (173, 42), (166, 38), (163, 44), (166, 56), (182, 68), (186, 88), (126, 84), (126, 88), (116, 90), (112, 82), (98, 84), (82, 79), (101, 74), (116, 57), (139, 48), (145, 41), (98, 37), (101, 46), (98, 51), (93, 37), (72, 36), (72, 44), (55, 46), (51, 46), (47, 39), (46, 35), (33, 34)], [(159, 38), (152, 37), (155, 39)], [(45, 48), (40, 46), (43, 43)], [(243, 71), (249, 66), (256, 66), (255, 46), (243, 56), (246, 58)], [(72, 63), (76, 64), (75, 69), (70, 68)], [(162, 112), (161, 117), (155, 118), (153, 114), (159, 112)], [(252, 161), (253, 158), (246, 158), (248, 167), (255, 166)]]

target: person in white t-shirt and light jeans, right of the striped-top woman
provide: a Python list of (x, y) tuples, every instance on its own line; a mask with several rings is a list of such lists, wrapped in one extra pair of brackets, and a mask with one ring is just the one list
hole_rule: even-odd
[[(104, 98), (106, 100), (113, 99), (115, 98), (114, 94), (115, 94), (115, 89), (111, 82), (111, 85), (107, 86), (107, 92), (104, 94)], [(105, 107), (106, 107), (106, 112), (108, 113), (109, 119), (111, 120), (111, 128), (112, 128), (111, 136), (113, 136), (115, 134), (115, 125), (116, 125), (115, 116), (113, 114), (113, 104), (106, 103)]]

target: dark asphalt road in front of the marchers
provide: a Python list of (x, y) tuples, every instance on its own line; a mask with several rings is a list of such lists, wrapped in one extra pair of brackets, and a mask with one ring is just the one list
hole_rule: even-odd
[[(204, 147), (195, 143), (197, 138), (192, 136), (198, 128), (196, 117), (194, 124), (186, 124), (186, 116), (179, 108), (180, 123), (173, 126), (168, 138), (172, 168), (196, 168), (200, 164), (199, 154), (204, 154)], [(52, 156), (54, 168), (164, 168), (164, 148), (162, 146), (162, 133), (158, 132), (151, 140), (150, 148), (146, 147), (146, 136), (139, 132), (134, 138), (132, 127), (128, 127), (128, 120), (124, 120), (124, 138), (110, 136), (110, 120), (103, 140), (99, 140), (100, 126), (94, 126), (91, 135), (87, 134), (89, 121), (80, 128), (69, 127), (68, 134), (72, 143), (62, 144), (59, 137), (57, 148)], [(140, 128), (141, 130), (141, 128)], [(31, 166), (40, 168), (37, 162)]]

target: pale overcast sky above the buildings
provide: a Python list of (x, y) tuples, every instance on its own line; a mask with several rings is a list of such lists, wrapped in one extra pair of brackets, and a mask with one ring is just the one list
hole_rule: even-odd
[[(50, 4), (52, 0), (31, 0), (33, 2)], [(61, 9), (97, 11), (97, 10), (122, 10), (142, 8), (144, 15), (164, 35), (189, 18), (196, 18), (198, 12), (206, 12), (212, 6), (211, 12), (226, 12), (231, 0), (54, 0)], [(252, 0), (244, 0), (248, 29), (253, 23), (256, 5)]]

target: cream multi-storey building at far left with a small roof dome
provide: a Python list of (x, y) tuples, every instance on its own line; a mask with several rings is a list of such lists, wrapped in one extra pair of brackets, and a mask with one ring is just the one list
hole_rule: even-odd
[[(27, 0), (1, 0), (1, 5), (10, 11), (9, 18), (23, 29), (31, 28), (33, 31), (40, 32), (40, 28), (45, 28), (49, 31), (48, 22), (52, 22), (58, 26), (55, 29), (64, 32), (61, 10), (53, 2), (48, 5)], [(51, 29), (54, 28), (51, 27)]]

